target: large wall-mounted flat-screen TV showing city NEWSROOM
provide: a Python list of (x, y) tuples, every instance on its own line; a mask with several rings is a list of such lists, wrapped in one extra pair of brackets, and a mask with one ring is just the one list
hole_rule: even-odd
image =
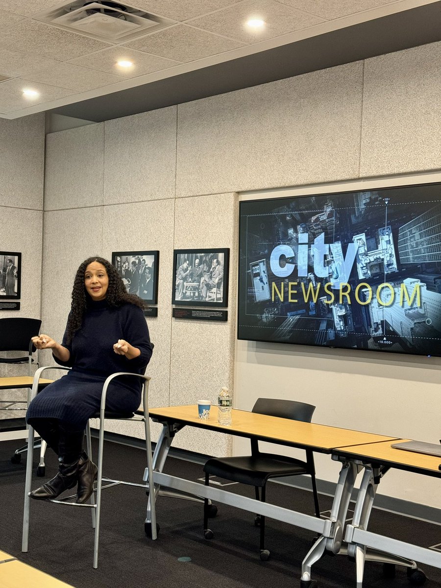
[(441, 184), (240, 202), (238, 338), (441, 356)]

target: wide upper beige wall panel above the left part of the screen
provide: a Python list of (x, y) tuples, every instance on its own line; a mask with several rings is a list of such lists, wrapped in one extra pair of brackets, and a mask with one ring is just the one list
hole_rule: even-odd
[(176, 196), (354, 178), (363, 63), (178, 106)]

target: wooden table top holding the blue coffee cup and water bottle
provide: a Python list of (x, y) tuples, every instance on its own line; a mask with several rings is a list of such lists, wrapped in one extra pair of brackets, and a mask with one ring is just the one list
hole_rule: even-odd
[(149, 415), (160, 422), (166, 419), (169, 422), (185, 423), (242, 437), (258, 437), (281, 445), (310, 448), (323, 453), (330, 453), (335, 447), (396, 440), (396, 437), (303, 423), (237, 409), (232, 409), (232, 424), (223, 426), (218, 423), (217, 406), (211, 407), (207, 420), (199, 419), (197, 405), (153, 408), (149, 409)]

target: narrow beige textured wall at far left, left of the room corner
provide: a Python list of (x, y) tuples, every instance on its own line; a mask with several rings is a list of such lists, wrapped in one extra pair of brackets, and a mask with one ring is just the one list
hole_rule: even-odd
[[(0, 318), (40, 318), (44, 138), (44, 114), (0, 119), (0, 251), (22, 254), (21, 308), (0, 310)], [(0, 376), (27, 373), (27, 366), (0, 363)], [(3, 399), (24, 396), (24, 392), (1, 392)], [(0, 410), (0, 419), (22, 415), (22, 411)]]

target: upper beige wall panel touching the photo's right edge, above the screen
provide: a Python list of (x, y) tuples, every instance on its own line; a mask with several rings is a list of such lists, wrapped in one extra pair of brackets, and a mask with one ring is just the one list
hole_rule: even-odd
[(360, 176), (441, 168), (441, 42), (365, 62)]

